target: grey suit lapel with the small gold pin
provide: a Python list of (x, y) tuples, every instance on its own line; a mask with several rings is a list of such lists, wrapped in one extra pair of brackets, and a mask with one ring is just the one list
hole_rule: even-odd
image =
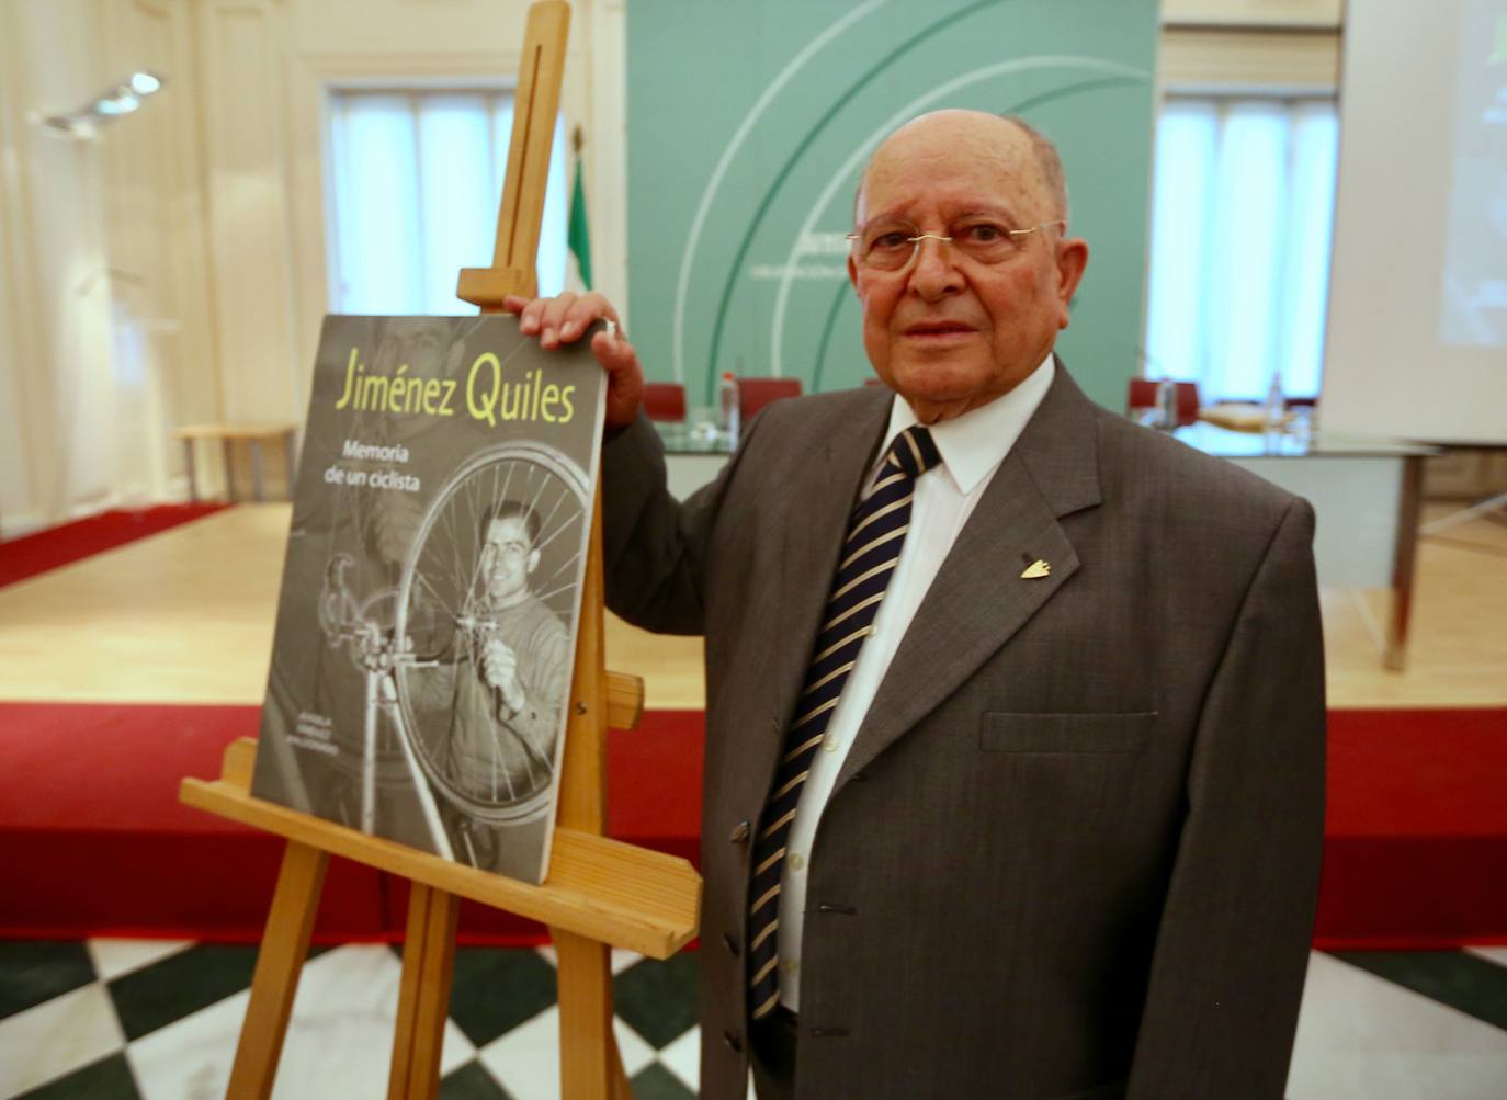
[[(1078, 571), (1058, 518), (1099, 503), (1094, 407), (1058, 363), (916, 609), (836, 787), (952, 695)], [(1022, 577), (1035, 561), (1046, 577)], [(830, 574), (829, 574), (830, 576)]]

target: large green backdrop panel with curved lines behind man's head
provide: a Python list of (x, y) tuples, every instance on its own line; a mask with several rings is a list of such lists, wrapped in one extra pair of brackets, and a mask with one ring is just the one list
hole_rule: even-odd
[(1025, 116), (1062, 152), (1091, 259), (1059, 348), (1090, 396), (1136, 369), (1156, 0), (633, 0), (628, 294), (651, 378), (870, 374), (844, 234), (874, 146), (915, 115)]

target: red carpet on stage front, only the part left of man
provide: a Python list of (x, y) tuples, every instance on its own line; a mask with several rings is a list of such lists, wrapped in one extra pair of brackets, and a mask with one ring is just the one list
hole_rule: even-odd
[[(283, 844), (179, 805), (255, 737), (256, 707), (0, 702), (0, 937), (256, 940)], [(701, 812), (701, 711), (650, 711), (609, 743), (612, 836), (686, 859)], [(330, 860), (315, 936), (401, 939), (407, 883)], [(464, 903), (463, 942), (544, 942)]]

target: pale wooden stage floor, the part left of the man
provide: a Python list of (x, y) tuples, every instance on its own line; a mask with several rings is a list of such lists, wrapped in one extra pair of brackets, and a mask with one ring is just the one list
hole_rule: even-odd
[[(288, 503), (240, 505), (0, 589), (0, 701), (256, 704)], [(645, 705), (702, 710), (701, 639), (609, 624)]]

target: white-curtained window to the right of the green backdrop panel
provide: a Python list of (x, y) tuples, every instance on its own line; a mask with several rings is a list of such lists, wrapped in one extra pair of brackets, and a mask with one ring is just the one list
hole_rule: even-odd
[(1260, 401), (1279, 372), (1287, 396), (1317, 396), (1337, 146), (1332, 99), (1166, 99), (1147, 375)]

